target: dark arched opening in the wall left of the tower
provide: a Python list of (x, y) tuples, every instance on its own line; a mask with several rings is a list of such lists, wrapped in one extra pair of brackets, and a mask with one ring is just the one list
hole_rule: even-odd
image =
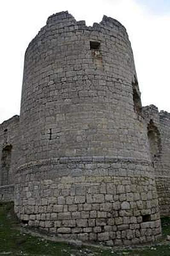
[(1, 175), (0, 175), (0, 185), (5, 186), (9, 185), (9, 170), (11, 167), (11, 151), (12, 145), (6, 145), (2, 151), (1, 157)]

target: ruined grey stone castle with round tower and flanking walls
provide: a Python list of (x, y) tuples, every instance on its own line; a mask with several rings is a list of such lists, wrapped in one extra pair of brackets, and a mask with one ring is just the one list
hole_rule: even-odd
[(170, 113), (142, 107), (124, 26), (50, 16), (26, 50), (20, 116), (0, 125), (0, 200), (64, 239), (155, 241), (169, 156)]

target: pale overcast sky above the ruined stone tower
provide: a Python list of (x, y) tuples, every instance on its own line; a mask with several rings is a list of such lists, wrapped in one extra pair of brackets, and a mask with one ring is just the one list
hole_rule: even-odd
[(68, 10), (90, 26), (103, 15), (127, 29), (142, 105), (170, 112), (170, 0), (1, 0), (0, 123), (20, 113), (26, 47), (47, 18)]

